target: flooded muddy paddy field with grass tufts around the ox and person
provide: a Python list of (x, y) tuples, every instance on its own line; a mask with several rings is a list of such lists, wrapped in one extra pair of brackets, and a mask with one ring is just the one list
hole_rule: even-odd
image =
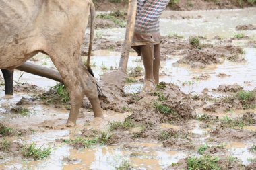
[[(74, 128), (65, 127), (65, 87), (15, 71), (8, 96), (1, 77), (0, 169), (256, 169), (255, 13), (166, 11), (164, 83), (141, 93), (143, 63), (131, 51), (125, 90), (102, 101), (104, 120), (84, 99)], [(91, 63), (98, 82), (117, 69), (124, 33), (96, 30)], [(54, 68), (44, 54), (30, 62)]]

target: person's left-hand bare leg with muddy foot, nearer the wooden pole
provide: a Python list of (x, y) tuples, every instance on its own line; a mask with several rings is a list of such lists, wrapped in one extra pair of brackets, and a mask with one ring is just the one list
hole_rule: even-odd
[(155, 87), (154, 75), (153, 75), (153, 60), (154, 60), (153, 45), (150, 44), (150, 45), (141, 46), (141, 54), (142, 54), (143, 64), (145, 69), (143, 91), (152, 91)]

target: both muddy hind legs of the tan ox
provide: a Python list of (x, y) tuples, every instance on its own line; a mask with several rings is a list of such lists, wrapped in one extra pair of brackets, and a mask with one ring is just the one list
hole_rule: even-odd
[(75, 126), (84, 95), (92, 105), (94, 116), (103, 117), (94, 77), (88, 73), (79, 55), (73, 54), (70, 57), (67, 54), (50, 55), (69, 91), (71, 110), (67, 126)]

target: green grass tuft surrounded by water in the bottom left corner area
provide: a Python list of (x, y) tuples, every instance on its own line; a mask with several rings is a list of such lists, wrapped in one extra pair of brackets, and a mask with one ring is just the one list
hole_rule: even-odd
[(30, 146), (22, 147), (22, 155), (24, 157), (32, 157), (34, 160), (44, 159), (50, 155), (51, 149), (52, 148), (50, 147), (42, 148), (42, 146), (40, 148), (36, 148), (36, 144), (33, 142)]

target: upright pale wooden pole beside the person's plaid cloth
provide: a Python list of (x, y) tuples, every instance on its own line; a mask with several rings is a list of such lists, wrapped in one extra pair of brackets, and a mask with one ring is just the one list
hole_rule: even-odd
[(137, 0), (129, 0), (125, 41), (123, 42), (123, 50), (119, 61), (119, 70), (123, 71), (124, 73), (126, 73), (128, 65), (131, 40), (133, 38), (134, 25), (136, 19), (136, 10)]

